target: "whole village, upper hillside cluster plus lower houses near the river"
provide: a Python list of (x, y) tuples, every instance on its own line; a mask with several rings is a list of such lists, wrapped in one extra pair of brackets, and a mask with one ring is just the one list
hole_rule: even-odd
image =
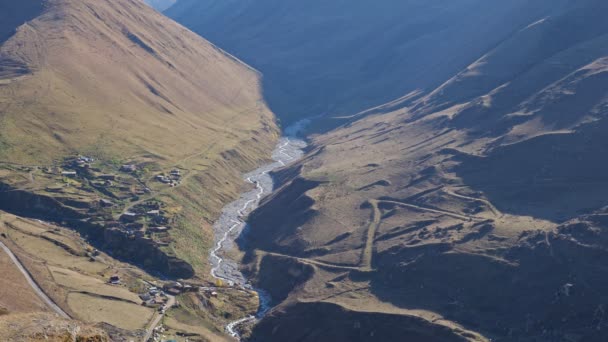
[[(92, 263), (103, 263), (105, 254), (128, 259), (132, 253), (145, 248), (145, 257), (139, 259), (143, 260), (142, 265), (149, 271), (163, 273), (167, 257), (172, 257), (171, 234), (177, 227), (179, 213), (179, 207), (167, 202), (168, 196), (164, 195), (182, 184), (184, 173), (184, 170), (177, 168), (162, 171), (158, 166), (142, 162), (104, 162), (78, 155), (57, 162), (54, 166), (2, 164), (0, 183), (52, 198), (52, 203), (68, 209), (66, 215), (44, 217), (45, 221), (65, 226), (74, 224), (74, 228), (86, 224), (92, 227), (92, 231), (99, 229), (103, 241), (85, 251), (85, 256)], [(248, 310), (253, 311), (258, 304), (257, 298), (249, 294), (250, 290), (241, 286), (168, 280), (148, 283), (140, 278), (138, 283), (145, 285), (131, 288), (132, 279), (123, 279), (124, 276), (120, 271), (106, 275), (106, 283), (127, 288), (137, 295), (141, 301), (139, 304), (154, 310), (155, 315), (146, 328), (149, 334), (146, 341), (166, 341), (172, 336), (178, 336), (178, 341), (185, 340), (185, 336), (179, 335), (182, 333), (179, 329), (165, 326), (163, 320), (166, 314), (174, 312), (171, 310), (180, 310), (183, 305), (180, 298), (197, 298), (195, 301), (203, 305), (205, 310), (217, 312), (226, 320), (238, 317), (235, 315), (240, 310), (235, 309), (234, 313), (224, 311), (226, 301), (239, 298), (238, 301), (246, 303), (244, 305)]]

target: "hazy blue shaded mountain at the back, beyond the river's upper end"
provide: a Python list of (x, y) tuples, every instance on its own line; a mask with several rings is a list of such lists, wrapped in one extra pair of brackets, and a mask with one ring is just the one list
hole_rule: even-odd
[(565, 2), (179, 0), (167, 15), (260, 70), (289, 123), (434, 89)]

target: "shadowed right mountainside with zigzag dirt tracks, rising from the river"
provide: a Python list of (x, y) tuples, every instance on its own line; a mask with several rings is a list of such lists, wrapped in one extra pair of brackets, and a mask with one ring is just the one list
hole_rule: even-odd
[(277, 304), (252, 340), (605, 339), (608, 8), (546, 5), (278, 174), (243, 241)]

